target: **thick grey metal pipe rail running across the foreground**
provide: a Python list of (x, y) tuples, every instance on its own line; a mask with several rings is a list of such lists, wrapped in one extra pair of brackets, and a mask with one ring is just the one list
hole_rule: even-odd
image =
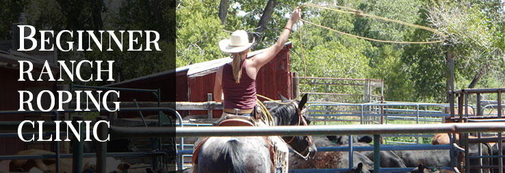
[[(383, 146), (380, 145), (382, 134), (417, 134), (417, 133), (471, 133), (471, 132), (503, 132), (505, 125), (500, 122), (447, 123), (447, 124), (361, 124), (361, 125), (315, 125), (309, 127), (177, 127), (179, 137), (210, 137), (210, 136), (268, 136), (268, 135), (374, 135), (374, 158), (380, 158), (381, 148), (389, 150), (410, 150), (413, 146)], [(350, 140), (352, 141), (352, 140)], [(451, 142), (452, 143), (452, 142)], [(419, 146), (422, 149), (424, 146)], [(439, 149), (456, 150), (452, 145), (435, 146)], [(321, 148), (326, 150), (344, 150), (341, 148)], [(349, 144), (349, 148), (365, 150)], [(428, 149), (428, 148), (425, 148)], [(431, 148), (429, 148), (431, 149)], [(465, 150), (467, 152), (467, 150)], [(352, 149), (351, 152), (352, 153)], [(469, 158), (469, 157), (468, 157)], [(451, 157), (453, 159), (453, 157)], [(453, 163), (453, 161), (451, 161)], [(469, 165), (467, 165), (469, 168)], [(502, 165), (501, 165), (502, 166)], [(501, 167), (500, 166), (500, 167)], [(352, 165), (350, 164), (350, 168)], [(450, 168), (454, 168), (453, 166)], [(380, 159), (374, 159), (374, 172), (380, 172)], [(501, 168), (500, 168), (501, 169)], [(390, 170), (390, 169), (388, 169)], [(395, 170), (394, 168), (391, 170)], [(335, 170), (334, 170), (335, 171)], [(469, 169), (467, 170), (469, 171)]]

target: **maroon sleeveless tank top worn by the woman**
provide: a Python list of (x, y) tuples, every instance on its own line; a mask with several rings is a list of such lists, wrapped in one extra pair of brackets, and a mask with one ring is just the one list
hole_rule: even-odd
[(224, 94), (223, 107), (227, 109), (252, 109), (256, 101), (256, 79), (251, 79), (242, 64), (242, 77), (240, 83), (235, 83), (231, 64), (224, 64), (222, 70), (222, 93)]

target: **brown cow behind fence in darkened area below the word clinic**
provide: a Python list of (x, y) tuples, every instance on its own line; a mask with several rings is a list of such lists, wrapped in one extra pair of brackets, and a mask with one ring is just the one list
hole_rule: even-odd
[[(22, 150), (16, 155), (54, 155), (54, 152), (39, 149)], [(34, 169), (36, 168), (36, 169)], [(128, 170), (128, 163), (107, 157), (107, 172), (122, 172)], [(9, 163), (10, 172), (24, 172), (26, 170), (40, 170), (41, 172), (56, 172), (56, 159), (20, 159)], [(96, 158), (83, 158), (83, 170), (96, 170)], [(72, 172), (72, 159), (60, 159), (60, 172)], [(94, 171), (93, 171), (94, 172)]]

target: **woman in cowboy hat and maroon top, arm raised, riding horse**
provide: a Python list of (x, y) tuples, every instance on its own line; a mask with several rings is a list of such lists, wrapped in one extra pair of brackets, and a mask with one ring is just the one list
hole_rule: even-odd
[[(257, 126), (266, 125), (261, 121), (261, 114), (257, 111), (256, 97), (256, 77), (259, 69), (270, 62), (283, 49), (287, 42), (289, 33), (296, 21), (300, 19), (300, 9), (296, 8), (292, 13), (291, 18), (287, 21), (281, 36), (277, 42), (265, 49), (262, 53), (253, 57), (247, 58), (250, 46), (254, 43), (249, 42), (248, 34), (244, 30), (237, 30), (231, 34), (230, 39), (221, 40), (219, 47), (222, 51), (230, 53), (233, 58), (231, 64), (224, 64), (218, 69), (216, 74), (216, 82), (214, 86), (214, 100), (223, 103), (223, 114), (220, 120), (226, 117), (233, 116), (250, 118)], [(299, 107), (298, 109), (302, 109)], [(274, 165), (276, 170), (287, 172), (288, 153), (287, 145), (281, 137), (268, 137), (268, 143), (274, 146), (274, 159), (277, 163)], [(258, 143), (261, 144), (261, 143)]]

